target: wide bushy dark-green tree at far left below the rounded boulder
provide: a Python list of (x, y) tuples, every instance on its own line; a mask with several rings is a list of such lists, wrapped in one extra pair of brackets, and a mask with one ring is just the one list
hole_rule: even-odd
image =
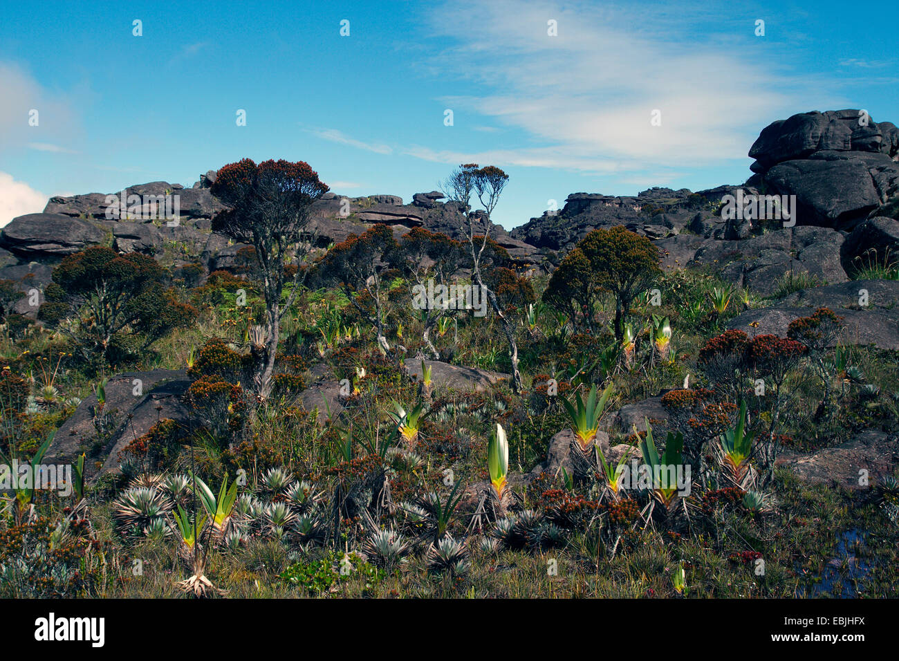
[(95, 246), (68, 255), (53, 270), (38, 318), (76, 341), (85, 360), (137, 355), (196, 310), (166, 290), (167, 273), (147, 255)]

